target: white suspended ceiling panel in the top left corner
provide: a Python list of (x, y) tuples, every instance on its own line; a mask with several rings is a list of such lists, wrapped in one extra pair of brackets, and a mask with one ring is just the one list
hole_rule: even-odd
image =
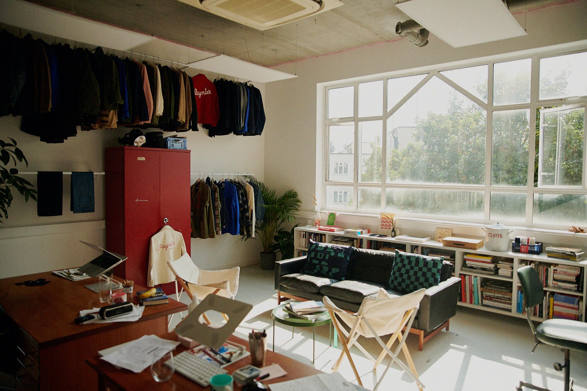
[(22, 0), (0, 0), (0, 22), (89, 45), (128, 50), (153, 37)]

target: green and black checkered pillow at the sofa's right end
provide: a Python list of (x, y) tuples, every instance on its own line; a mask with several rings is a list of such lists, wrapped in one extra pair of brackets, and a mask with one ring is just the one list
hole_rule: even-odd
[(389, 288), (410, 293), (440, 283), (440, 269), (444, 257), (427, 257), (396, 250)]

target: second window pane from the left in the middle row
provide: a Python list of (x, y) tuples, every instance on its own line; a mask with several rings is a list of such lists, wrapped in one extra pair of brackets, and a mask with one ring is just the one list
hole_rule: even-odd
[(383, 121), (359, 122), (359, 182), (381, 182)]

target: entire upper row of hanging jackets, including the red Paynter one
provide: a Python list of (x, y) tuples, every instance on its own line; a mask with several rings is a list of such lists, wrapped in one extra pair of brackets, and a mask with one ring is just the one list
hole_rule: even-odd
[[(22, 115), (21, 130), (46, 143), (63, 143), (76, 136), (77, 126), (82, 130), (132, 126), (197, 131), (198, 113), (203, 117), (200, 123), (208, 126), (224, 124), (221, 114), (231, 113), (219, 109), (226, 106), (225, 95), (219, 101), (215, 85), (202, 74), (190, 77), (153, 62), (107, 55), (102, 48), (49, 45), (30, 34), (21, 38), (5, 30), (0, 32), (0, 50), (11, 53), (11, 61), (0, 63), (0, 116)], [(205, 85), (204, 79), (208, 80)], [(264, 112), (259, 119), (261, 94), (254, 86), (238, 86), (236, 123), (242, 128), (235, 134), (261, 134), (265, 123)], [(207, 103), (211, 97), (212, 105)], [(228, 122), (232, 123), (231, 117)], [(245, 126), (253, 131), (242, 132)]]

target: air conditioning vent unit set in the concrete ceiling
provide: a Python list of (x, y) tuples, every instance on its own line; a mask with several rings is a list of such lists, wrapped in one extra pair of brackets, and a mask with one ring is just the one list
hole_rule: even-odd
[(266, 30), (343, 5), (340, 0), (180, 0), (212, 14)]

